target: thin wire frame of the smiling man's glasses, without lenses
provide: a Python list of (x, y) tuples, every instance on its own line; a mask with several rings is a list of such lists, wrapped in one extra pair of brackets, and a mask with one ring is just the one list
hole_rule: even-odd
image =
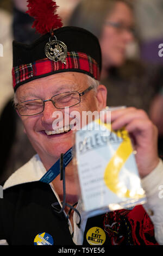
[[(79, 92), (77, 92), (77, 91), (72, 91), (72, 92), (64, 92), (64, 93), (58, 93), (58, 94), (55, 94), (55, 95), (53, 95), (52, 97), (51, 97), (51, 99), (47, 99), (47, 100), (42, 100), (42, 99), (34, 99), (34, 100), (26, 100), (26, 101), (23, 101), (23, 102), (20, 102), (20, 103), (17, 103), (17, 104), (15, 104), (15, 106), (14, 106), (14, 108), (18, 111), (18, 113), (21, 115), (21, 116), (30, 116), (30, 115), (36, 115), (36, 114), (40, 114), (40, 113), (42, 113), (43, 111), (44, 111), (44, 108), (45, 108), (45, 102), (47, 102), (47, 101), (52, 101), (52, 103), (53, 103), (53, 105), (54, 105), (54, 107), (55, 108), (57, 108), (57, 109), (64, 109), (64, 108), (68, 108), (68, 107), (73, 107), (73, 106), (76, 106), (76, 105), (78, 105), (80, 102), (81, 102), (81, 96), (83, 96), (84, 94), (86, 94), (87, 92), (89, 92), (91, 89), (93, 89), (93, 86), (90, 86), (90, 87), (88, 87), (87, 89), (85, 89), (82, 93), (79, 93)], [(68, 95), (68, 94), (72, 94), (72, 93), (78, 93), (78, 96), (79, 96), (79, 98), (78, 98), (78, 102), (76, 102), (76, 103), (74, 103), (73, 105), (69, 105), (69, 106), (64, 106), (64, 107), (57, 107), (56, 105), (55, 105), (55, 101), (54, 101), (54, 98), (55, 98), (55, 96), (58, 96), (58, 95)], [(41, 102), (42, 102), (42, 110), (41, 111), (39, 111), (38, 113), (34, 113), (34, 114), (22, 114), (21, 113), (21, 111), (20, 111), (20, 107), (22, 107), (22, 104), (25, 104), (25, 103), (27, 103), (27, 102), (34, 102), (34, 101), (36, 101), (36, 100), (41, 100)], [(25, 106), (24, 106), (25, 107)]]

